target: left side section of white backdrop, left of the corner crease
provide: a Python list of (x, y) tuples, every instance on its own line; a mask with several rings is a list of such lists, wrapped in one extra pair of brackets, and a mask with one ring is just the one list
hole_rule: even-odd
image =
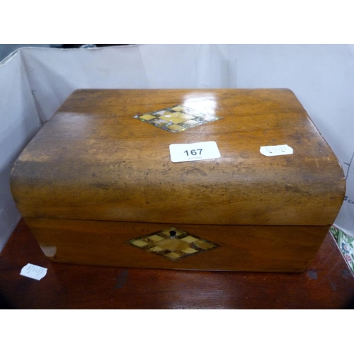
[(20, 219), (10, 193), (11, 167), (39, 129), (21, 55), (15, 55), (0, 67), (0, 250)]

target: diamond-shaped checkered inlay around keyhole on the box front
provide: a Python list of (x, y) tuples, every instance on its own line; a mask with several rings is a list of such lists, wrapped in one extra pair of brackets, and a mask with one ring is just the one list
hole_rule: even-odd
[(152, 234), (127, 241), (128, 244), (164, 256), (171, 261), (216, 249), (219, 245), (185, 232), (176, 227), (160, 230)]

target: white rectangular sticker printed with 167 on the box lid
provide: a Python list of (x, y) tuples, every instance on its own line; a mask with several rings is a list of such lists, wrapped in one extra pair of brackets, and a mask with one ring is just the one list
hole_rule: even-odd
[(217, 159), (221, 156), (216, 142), (171, 144), (170, 154), (172, 162)]

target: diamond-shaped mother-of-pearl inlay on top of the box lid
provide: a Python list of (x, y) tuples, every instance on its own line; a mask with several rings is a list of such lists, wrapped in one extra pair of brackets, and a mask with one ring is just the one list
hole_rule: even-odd
[(200, 113), (183, 105), (174, 105), (163, 110), (135, 115), (134, 118), (169, 132), (182, 132), (197, 125), (221, 119), (221, 117), (217, 117), (216, 115)]

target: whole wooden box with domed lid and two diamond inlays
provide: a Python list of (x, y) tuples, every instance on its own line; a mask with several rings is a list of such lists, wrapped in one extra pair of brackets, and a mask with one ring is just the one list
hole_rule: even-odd
[[(171, 161), (170, 144), (210, 141), (219, 158)], [(293, 154), (260, 152), (284, 144)], [(11, 190), (52, 261), (300, 272), (345, 178), (287, 89), (79, 90), (18, 157)]]

